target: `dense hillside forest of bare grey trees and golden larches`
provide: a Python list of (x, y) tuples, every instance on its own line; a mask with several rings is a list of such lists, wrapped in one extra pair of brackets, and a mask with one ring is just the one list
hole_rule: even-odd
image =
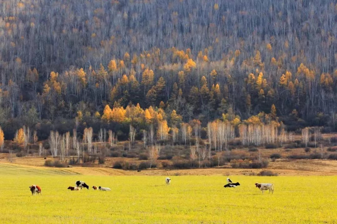
[(206, 137), (217, 119), (237, 135), (336, 131), (336, 0), (0, 2), (7, 140), (23, 125), (41, 140), (89, 127), (167, 139), (199, 122)]

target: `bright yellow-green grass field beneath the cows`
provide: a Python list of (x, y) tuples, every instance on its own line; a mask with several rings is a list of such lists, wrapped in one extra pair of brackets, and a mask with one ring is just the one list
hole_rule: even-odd
[[(0, 223), (337, 223), (337, 176), (77, 175), (0, 164)], [(75, 181), (112, 191), (70, 191)], [(255, 182), (275, 185), (261, 193)], [(42, 195), (31, 195), (38, 184)]]

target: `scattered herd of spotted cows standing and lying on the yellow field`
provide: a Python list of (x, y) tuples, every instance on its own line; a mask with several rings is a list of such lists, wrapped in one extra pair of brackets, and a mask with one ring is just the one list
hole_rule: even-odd
[[(169, 177), (165, 178), (165, 184), (166, 186), (169, 186), (171, 183), (171, 179)], [(75, 182), (75, 187), (71, 187), (69, 186), (68, 189), (69, 190), (81, 190), (82, 187), (87, 188), (89, 190), (89, 185), (87, 185), (84, 181), (76, 181)], [(227, 184), (224, 185), (224, 187), (237, 187), (240, 186), (239, 182), (233, 183), (233, 181), (231, 179), (229, 179), (227, 177)], [(271, 183), (255, 183), (255, 187), (258, 187), (258, 189), (260, 189), (263, 193), (264, 190), (269, 190), (269, 193), (272, 192), (272, 194), (274, 193), (274, 184)], [(38, 185), (31, 185), (29, 186), (30, 191), (33, 194), (42, 194), (41, 192), (41, 187), (39, 187)], [(92, 186), (92, 189), (94, 190), (101, 190), (101, 191), (111, 191), (111, 189), (109, 187), (96, 187), (96, 186)]]

